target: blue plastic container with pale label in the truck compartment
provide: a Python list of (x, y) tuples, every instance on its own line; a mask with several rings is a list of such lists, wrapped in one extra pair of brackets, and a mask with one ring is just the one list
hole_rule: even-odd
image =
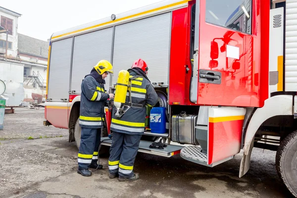
[(151, 133), (166, 133), (165, 107), (152, 107), (149, 115), (149, 128)]

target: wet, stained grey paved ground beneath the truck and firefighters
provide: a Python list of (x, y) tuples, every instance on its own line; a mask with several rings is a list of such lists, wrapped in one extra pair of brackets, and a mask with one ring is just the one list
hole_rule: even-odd
[[(100, 156), (103, 170), (82, 177), (76, 173), (78, 150), (75, 143), (68, 143), (68, 131), (43, 126), (43, 113), (23, 108), (5, 115), (5, 130), (0, 131), (5, 138), (0, 141), (0, 198), (292, 197), (276, 173), (275, 152), (258, 148), (242, 178), (238, 177), (242, 152), (213, 168), (178, 155), (138, 153), (134, 170), (141, 178), (128, 183), (109, 179), (108, 156)], [(27, 140), (28, 136), (55, 138)]]

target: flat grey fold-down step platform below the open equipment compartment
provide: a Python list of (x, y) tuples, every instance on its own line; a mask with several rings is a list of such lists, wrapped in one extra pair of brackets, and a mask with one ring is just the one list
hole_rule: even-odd
[[(101, 145), (105, 146), (111, 146), (111, 139), (108, 137), (101, 138)], [(181, 149), (184, 147), (181, 146), (176, 146), (176, 145), (167, 145), (167, 147), (163, 149), (158, 149), (158, 148), (149, 148), (149, 145), (152, 144), (153, 142), (150, 141), (144, 141), (141, 140), (139, 144), (139, 152), (144, 152), (148, 154), (153, 154), (153, 155), (159, 155), (163, 157), (171, 157), (173, 155), (179, 154)]]

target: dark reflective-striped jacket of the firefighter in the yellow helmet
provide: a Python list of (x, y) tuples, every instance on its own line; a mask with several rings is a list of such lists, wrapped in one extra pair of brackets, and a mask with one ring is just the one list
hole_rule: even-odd
[(104, 84), (93, 76), (86, 76), (81, 85), (81, 104), (79, 125), (85, 128), (102, 128), (105, 113), (104, 106), (109, 95), (105, 93)]

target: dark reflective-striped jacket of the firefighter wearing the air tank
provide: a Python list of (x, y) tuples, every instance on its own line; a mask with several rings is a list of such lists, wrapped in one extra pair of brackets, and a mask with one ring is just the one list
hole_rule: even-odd
[[(115, 132), (129, 135), (143, 135), (146, 122), (146, 105), (154, 106), (158, 96), (151, 83), (133, 70), (128, 70), (131, 80), (131, 98), (127, 92), (126, 102), (142, 104), (142, 107), (130, 107), (121, 117), (115, 117), (116, 108), (112, 109), (112, 119), (110, 129)], [(130, 88), (128, 88), (130, 89)], [(116, 95), (116, 91), (115, 91)]]

